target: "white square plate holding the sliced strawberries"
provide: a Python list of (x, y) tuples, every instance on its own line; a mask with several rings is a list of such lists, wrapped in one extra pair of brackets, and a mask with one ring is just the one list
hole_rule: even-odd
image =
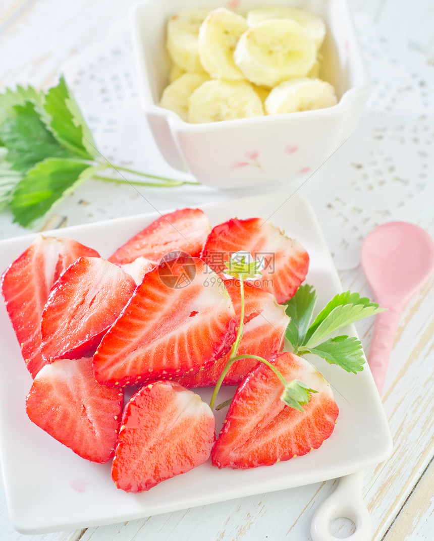
[[(274, 193), (202, 207), (212, 225), (231, 217), (264, 217), (310, 254), (306, 278), (318, 293), (322, 308), (341, 291), (338, 274), (318, 222), (300, 195)], [(157, 213), (65, 228), (44, 235), (68, 236), (108, 257)], [(36, 235), (0, 242), (0, 272), (21, 254)], [(350, 334), (356, 329), (348, 328)], [(286, 489), (343, 476), (389, 456), (392, 441), (372, 375), (348, 374), (316, 357), (310, 360), (333, 386), (339, 417), (332, 436), (315, 451), (271, 467), (218, 470), (211, 462), (155, 486), (149, 492), (117, 490), (109, 464), (83, 460), (32, 424), (25, 413), (31, 376), (25, 368), (5, 307), (0, 307), (0, 452), (11, 521), (22, 533), (72, 530), (186, 509), (196, 505)], [(218, 401), (231, 396), (223, 388)], [(203, 397), (209, 400), (211, 392)], [(217, 418), (218, 429), (224, 413)]]

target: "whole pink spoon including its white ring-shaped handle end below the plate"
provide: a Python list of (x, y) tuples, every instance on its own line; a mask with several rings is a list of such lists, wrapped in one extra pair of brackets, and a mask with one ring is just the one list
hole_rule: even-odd
[[(381, 394), (399, 315), (411, 297), (434, 272), (434, 242), (422, 228), (390, 222), (372, 230), (361, 247), (361, 263), (374, 299), (387, 312), (376, 315), (368, 363)], [(356, 531), (347, 539), (371, 541), (369, 511), (362, 498), (364, 471), (341, 477), (337, 489), (315, 511), (313, 541), (336, 541), (330, 524), (349, 518)]]

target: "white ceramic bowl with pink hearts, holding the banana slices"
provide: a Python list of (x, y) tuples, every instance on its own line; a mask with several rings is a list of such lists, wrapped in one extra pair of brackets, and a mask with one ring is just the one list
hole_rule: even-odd
[[(268, 4), (323, 17), (327, 36), (320, 77), (339, 102), (327, 109), (190, 124), (158, 106), (168, 84), (166, 23), (184, 8), (226, 6), (241, 14)], [(130, 9), (141, 101), (161, 154), (202, 184), (242, 188), (303, 181), (352, 134), (369, 93), (369, 76), (345, 0), (146, 0)]]

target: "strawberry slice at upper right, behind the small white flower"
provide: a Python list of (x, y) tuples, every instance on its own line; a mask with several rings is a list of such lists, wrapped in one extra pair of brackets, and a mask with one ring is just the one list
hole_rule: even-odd
[(305, 279), (309, 266), (306, 250), (261, 218), (234, 218), (214, 227), (201, 258), (216, 273), (222, 274), (229, 256), (241, 250), (251, 253), (255, 260), (264, 258), (262, 277), (255, 280), (254, 285), (273, 293), (279, 304), (291, 299)]

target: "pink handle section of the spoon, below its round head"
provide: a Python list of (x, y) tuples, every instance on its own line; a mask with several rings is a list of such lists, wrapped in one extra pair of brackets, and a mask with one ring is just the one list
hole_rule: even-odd
[(376, 315), (371, 347), (367, 362), (381, 396), (386, 375), (387, 363), (393, 348), (393, 341), (398, 327), (400, 311), (389, 307), (387, 312)]

